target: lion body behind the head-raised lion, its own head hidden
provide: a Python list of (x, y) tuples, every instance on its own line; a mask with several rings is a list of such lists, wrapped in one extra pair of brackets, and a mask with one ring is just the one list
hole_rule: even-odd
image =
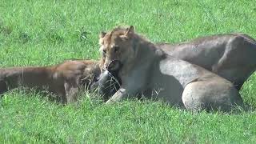
[[(100, 45), (105, 34), (100, 34)], [(174, 58), (202, 66), (226, 78), (238, 90), (256, 70), (256, 41), (247, 34), (218, 34), (178, 44), (156, 43), (155, 46)], [(105, 53), (102, 49), (100, 51), (100, 66), (104, 68)]]

